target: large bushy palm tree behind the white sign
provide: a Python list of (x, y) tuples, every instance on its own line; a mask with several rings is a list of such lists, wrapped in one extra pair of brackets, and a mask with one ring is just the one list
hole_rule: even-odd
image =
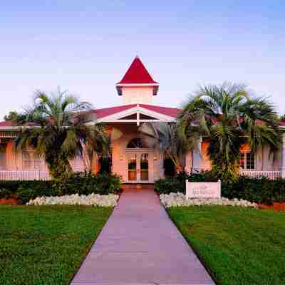
[(268, 146), (275, 155), (282, 141), (278, 122), (266, 98), (252, 96), (245, 86), (223, 83), (199, 88), (180, 113), (178, 128), (190, 145), (199, 136), (209, 138), (212, 170), (228, 180), (237, 177), (242, 144), (247, 142), (252, 152)]

